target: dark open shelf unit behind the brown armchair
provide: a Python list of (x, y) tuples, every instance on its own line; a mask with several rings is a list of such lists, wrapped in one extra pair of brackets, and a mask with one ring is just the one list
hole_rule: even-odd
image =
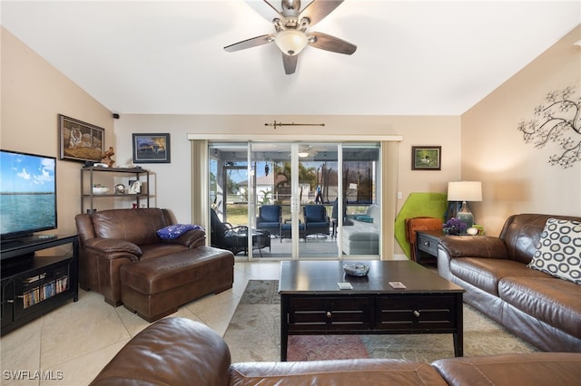
[[(98, 183), (95, 181), (95, 175), (99, 173), (113, 173), (113, 177), (129, 177), (129, 179), (140, 180), (142, 181), (142, 187), (140, 193), (128, 193), (129, 191), (129, 184), (124, 183), (125, 186), (125, 193), (119, 194), (115, 193), (114, 185), (111, 183), (111, 186), (108, 186), (109, 191), (107, 194), (94, 194), (93, 193), (93, 185)], [(85, 174), (88, 174), (88, 181), (85, 180)], [(112, 177), (110, 174), (109, 177)], [(143, 181), (142, 178), (145, 178)], [(95, 201), (102, 199), (102, 198), (113, 198), (113, 199), (128, 199), (131, 198), (137, 204), (137, 207), (141, 207), (143, 201), (145, 202), (146, 206), (149, 207), (149, 170), (142, 169), (142, 168), (103, 168), (99, 166), (86, 166), (81, 168), (81, 213), (85, 211), (85, 200), (88, 201), (88, 209), (87, 211), (94, 211), (95, 210)]]

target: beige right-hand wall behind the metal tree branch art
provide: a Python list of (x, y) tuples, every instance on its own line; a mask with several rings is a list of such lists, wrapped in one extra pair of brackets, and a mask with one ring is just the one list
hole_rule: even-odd
[(558, 146), (537, 150), (517, 130), (520, 121), (534, 118), (548, 92), (575, 86), (579, 98), (579, 40), (581, 26), (462, 115), (462, 179), (482, 180), (483, 201), (470, 207), (489, 235), (496, 236), (511, 214), (581, 216), (581, 162), (569, 169), (550, 166)]

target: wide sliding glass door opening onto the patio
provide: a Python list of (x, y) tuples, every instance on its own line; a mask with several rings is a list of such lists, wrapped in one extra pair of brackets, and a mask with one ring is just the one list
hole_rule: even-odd
[(377, 257), (379, 150), (379, 143), (209, 142), (212, 210), (232, 228), (247, 227), (241, 252), (251, 259)]

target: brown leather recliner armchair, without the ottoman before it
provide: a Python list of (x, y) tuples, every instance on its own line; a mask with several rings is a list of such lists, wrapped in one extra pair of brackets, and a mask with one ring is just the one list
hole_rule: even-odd
[(175, 224), (161, 208), (111, 209), (75, 217), (81, 247), (79, 285), (121, 305), (120, 270), (131, 262), (172, 255), (205, 244), (203, 229), (191, 229), (167, 240), (156, 231)]

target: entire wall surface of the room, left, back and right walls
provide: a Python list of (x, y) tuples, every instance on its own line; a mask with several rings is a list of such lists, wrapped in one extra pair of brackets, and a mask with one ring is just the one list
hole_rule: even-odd
[[(447, 116), (206, 116), (125, 115), (113, 120), (111, 111), (57, 72), (12, 34), (2, 31), (2, 120), (0, 145), (58, 156), (57, 114), (90, 122), (105, 129), (105, 145), (113, 146), (118, 165), (132, 162), (133, 132), (169, 132), (172, 163), (142, 164), (153, 171), (153, 205), (169, 207), (181, 222), (190, 221), (192, 194), (190, 133), (293, 134), (300, 140), (313, 130), (333, 134), (398, 134), (398, 190), (402, 199), (412, 192), (446, 191), (450, 180), (483, 181), (484, 200), (472, 204), (478, 223), (497, 234), (504, 219), (519, 212), (581, 215), (581, 164), (560, 169), (547, 165), (554, 150), (526, 145), (517, 124), (532, 118), (532, 111), (547, 92), (576, 85), (581, 93), (579, 68), (581, 39), (577, 28), (543, 53), (523, 71), (492, 92), (461, 117)], [(324, 122), (320, 127), (273, 130), (271, 121)], [(412, 171), (411, 146), (442, 146), (441, 171)], [(74, 231), (80, 210), (81, 164), (58, 161), (59, 231)], [(396, 250), (396, 254), (400, 251)]]

